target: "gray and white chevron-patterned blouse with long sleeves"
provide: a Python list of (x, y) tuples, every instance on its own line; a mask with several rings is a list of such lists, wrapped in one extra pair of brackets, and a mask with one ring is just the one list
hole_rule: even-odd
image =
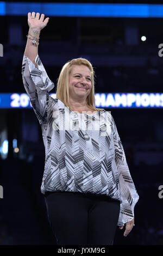
[[(117, 225), (133, 220), (139, 200), (115, 121), (104, 109), (92, 114), (71, 111), (49, 92), (49, 79), (39, 56), (23, 56), (24, 88), (41, 125), (45, 169), (41, 193), (71, 191), (106, 194), (121, 202)], [(86, 141), (84, 134), (89, 134)]]

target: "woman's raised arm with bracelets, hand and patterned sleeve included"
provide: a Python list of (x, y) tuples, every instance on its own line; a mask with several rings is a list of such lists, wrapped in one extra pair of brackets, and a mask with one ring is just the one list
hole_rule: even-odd
[(28, 25), (30, 38), (27, 39), (26, 50), (22, 62), (22, 79), (24, 88), (29, 96), (34, 112), (39, 119), (39, 123), (47, 122), (48, 113), (54, 103), (54, 99), (49, 96), (49, 92), (54, 88), (54, 83), (49, 79), (46, 70), (38, 55), (38, 44), (33, 42), (36, 38), (38, 42), (40, 31), (47, 25), (48, 18), (44, 19), (44, 14), (28, 13)]

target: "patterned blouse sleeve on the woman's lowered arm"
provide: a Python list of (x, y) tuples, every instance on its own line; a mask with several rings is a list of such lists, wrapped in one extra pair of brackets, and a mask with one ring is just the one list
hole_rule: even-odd
[(131, 178), (123, 145), (120, 136), (118, 135), (117, 127), (113, 117), (112, 129), (115, 147), (115, 162), (120, 180), (120, 193), (122, 199), (120, 206), (120, 216), (117, 225), (124, 225), (124, 223), (133, 220), (134, 207), (139, 200), (139, 195), (137, 194), (134, 182)]

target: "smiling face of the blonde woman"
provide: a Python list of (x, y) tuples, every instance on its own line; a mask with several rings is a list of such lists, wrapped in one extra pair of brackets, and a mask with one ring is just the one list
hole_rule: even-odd
[(86, 65), (72, 65), (69, 76), (69, 95), (73, 100), (86, 100), (91, 92), (91, 71)]

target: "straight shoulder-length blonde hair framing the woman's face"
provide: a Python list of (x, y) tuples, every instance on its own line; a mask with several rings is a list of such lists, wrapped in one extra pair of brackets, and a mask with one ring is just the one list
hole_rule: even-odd
[(95, 111), (101, 111), (102, 108), (96, 108), (95, 106), (95, 71), (93, 70), (92, 64), (89, 60), (84, 58), (77, 58), (68, 61), (60, 71), (60, 75), (57, 82), (56, 98), (62, 101), (66, 107), (71, 108), (70, 97), (69, 97), (69, 76), (73, 65), (85, 65), (91, 71), (92, 87), (91, 92), (86, 98), (87, 106)]

